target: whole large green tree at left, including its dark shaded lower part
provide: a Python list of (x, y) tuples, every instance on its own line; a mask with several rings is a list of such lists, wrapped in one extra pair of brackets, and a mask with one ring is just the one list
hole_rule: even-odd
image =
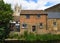
[(3, 0), (0, 0), (0, 39), (5, 38), (9, 33), (9, 21), (12, 20), (13, 10), (10, 4), (5, 4)]

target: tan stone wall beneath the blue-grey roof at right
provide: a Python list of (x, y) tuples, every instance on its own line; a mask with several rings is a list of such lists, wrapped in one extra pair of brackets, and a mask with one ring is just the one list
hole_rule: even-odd
[[(56, 22), (56, 26), (53, 25)], [(52, 33), (60, 31), (60, 19), (48, 19), (48, 30)]]

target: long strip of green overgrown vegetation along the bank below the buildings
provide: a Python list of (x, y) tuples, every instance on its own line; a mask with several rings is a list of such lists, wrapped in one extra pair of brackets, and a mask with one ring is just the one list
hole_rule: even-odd
[(28, 34), (27, 32), (24, 32), (23, 35), (17, 35), (14, 34), (14, 36), (10, 36), (9, 39), (22, 39), (22, 40), (27, 40), (27, 41), (35, 41), (35, 40), (40, 40), (40, 41), (48, 41), (48, 40), (60, 40), (60, 35), (58, 34), (33, 34), (30, 33)]

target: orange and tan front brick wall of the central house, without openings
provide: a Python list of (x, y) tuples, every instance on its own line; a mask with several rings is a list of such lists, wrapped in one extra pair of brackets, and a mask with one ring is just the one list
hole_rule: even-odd
[[(36, 26), (35, 33), (45, 33), (46, 31), (46, 23), (47, 22), (47, 15), (40, 15), (38, 18), (37, 15), (30, 15), (30, 18), (26, 18), (26, 15), (20, 16), (20, 33), (24, 33), (24, 31), (33, 32), (32, 26)], [(22, 29), (22, 24), (26, 23), (27, 28)], [(40, 23), (43, 23), (43, 28), (40, 29)], [(42, 31), (41, 31), (42, 30)], [(44, 32), (45, 31), (45, 32)]]

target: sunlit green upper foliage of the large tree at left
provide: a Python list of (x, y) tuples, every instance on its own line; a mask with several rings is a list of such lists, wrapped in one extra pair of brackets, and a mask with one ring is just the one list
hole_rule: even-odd
[(13, 18), (12, 13), (11, 5), (0, 1), (0, 24), (8, 24)]

